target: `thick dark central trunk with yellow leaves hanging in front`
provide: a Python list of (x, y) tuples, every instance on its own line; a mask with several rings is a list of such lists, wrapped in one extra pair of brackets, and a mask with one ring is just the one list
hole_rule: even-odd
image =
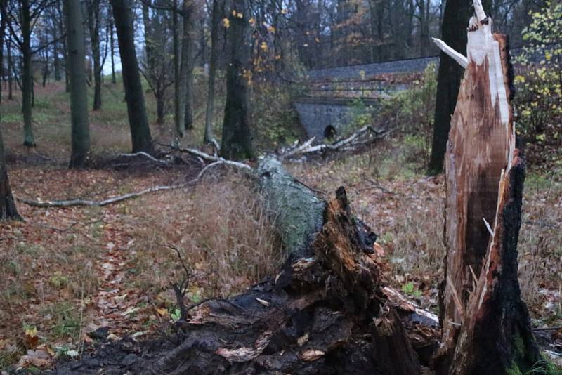
[[(236, 13), (236, 16), (233, 13)], [(227, 159), (244, 159), (254, 156), (248, 105), (248, 81), (251, 79), (251, 71), (247, 0), (234, 0), (233, 13), (230, 15), (228, 28), (230, 64), (226, 73), (226, 105), (221, 154)]]

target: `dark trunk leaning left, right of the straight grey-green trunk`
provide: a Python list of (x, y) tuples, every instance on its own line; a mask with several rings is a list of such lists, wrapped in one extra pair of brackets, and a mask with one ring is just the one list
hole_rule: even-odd
[(117, 29), (119, 55), (121, 55), (123, 85), (127, 100), (127, 112), (129, 113), (133, 152), (150, 153), (153, 150), (152, 137), (146, 117), (141, 74), (138, 72), (130, 3), (129, 0), (111, 0), (111, 5), (115, 29)]

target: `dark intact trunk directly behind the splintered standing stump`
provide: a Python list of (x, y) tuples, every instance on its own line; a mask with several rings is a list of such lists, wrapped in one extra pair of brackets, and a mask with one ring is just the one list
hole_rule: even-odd
[[(472, 15), (471, 3), (471, 0), (447, 0), (445, 3), (441, 39), (455, 51), (466, 49), (466, 20)], [(433, 143), (428, 166), (428, 173), (432, 175), (443, 171), (443, 157), (451, 128), (451, 115), (457, 105), (463, 73), (464, 70), (455, 60), (441, 52), (433, 120)]]

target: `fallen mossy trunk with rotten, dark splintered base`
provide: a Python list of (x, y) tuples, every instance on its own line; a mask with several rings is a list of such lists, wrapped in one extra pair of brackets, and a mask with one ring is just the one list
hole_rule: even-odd
[(279, 275), (190, 310), (182, 343), (138, 366), (157, 374), (419, 374), (382, 291), (376, 235), (353, 218), (344, 188), (325, 202), (275, 159), (256, 173), (289, 252)]

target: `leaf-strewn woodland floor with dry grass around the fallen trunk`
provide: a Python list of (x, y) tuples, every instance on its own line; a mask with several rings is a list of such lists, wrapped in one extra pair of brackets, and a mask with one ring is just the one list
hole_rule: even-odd
[[(98, 158), (128, 152), (126, 109), (117, 87), (104, 86), (107, 108), (91, 114)], [(18, 100), (2, 100), (17, 197), (105, 199), (183, 183), (200, 170), (195, 162), (68, 170), (65, 95), (60, 85), (36, 88), (38, 147), (33, 150), (20, 146)], [(155, 138), (164, 142), (169, 127), (153, 126)], [(188, 139), (202, 138), (195, 133)], [(388, 284), (436, 312), (444, 186), (443, 176), (424, 176), (425, 158), (415, 138), (403, 137), (364, 154), (287, 167), (325, 196), (346, 186), (353, 210), (379, 235)], [(25, 221), (0, 224), (0, 369), (14, 364), (47, 368), (55, 357), (81, 355), (100, 337), (141, 340), (171, 332), (178, 309), (170, 283), (181, 279), (182, 270), (166, 244), (177, 246), (192, 270), (191, 303), (232, 296), (273, 275), (282, 254), (248, 186), (243, 176), (218, 171), (185, 189), (101, 208), (40, 209), (19, 203)], [(519, 242), (523, 298), (535, 327), (561, 326), (562, 171), (538, 173), (531, 165), (524, 199)], [(558, 334), (562, 346), (562, 330)]]

